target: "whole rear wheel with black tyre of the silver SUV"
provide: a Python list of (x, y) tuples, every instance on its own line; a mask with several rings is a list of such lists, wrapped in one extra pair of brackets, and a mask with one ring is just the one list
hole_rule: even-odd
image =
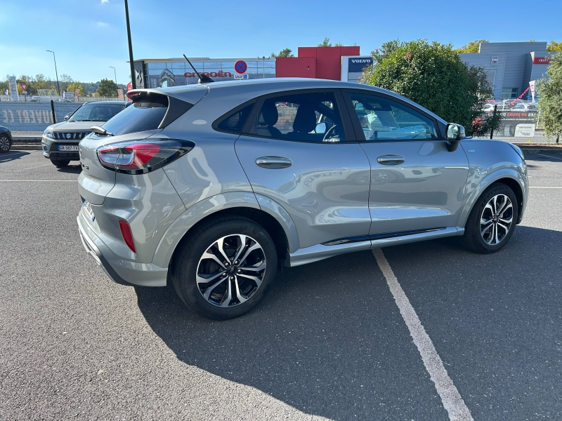
[(249, 312), (275, 280), (275, 244), (261, 225), (249, 219), (209, 222), (181, 247), (171, 265), (174, 288), (185, 305), (208, 319), (233, 319)]

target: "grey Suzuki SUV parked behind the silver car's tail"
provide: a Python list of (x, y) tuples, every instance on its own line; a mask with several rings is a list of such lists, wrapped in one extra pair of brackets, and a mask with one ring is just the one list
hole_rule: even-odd
[(128, 104), (124, 101), (84, 102), (76, 111), (67, 114), (65, 121), (45, 129), (41, 138), (43, 155), (51, 159), (57, 168), (67, 166), (70, 161), (78, 161), (78, 142), (91, 132), (91, 126), (102, 125)]

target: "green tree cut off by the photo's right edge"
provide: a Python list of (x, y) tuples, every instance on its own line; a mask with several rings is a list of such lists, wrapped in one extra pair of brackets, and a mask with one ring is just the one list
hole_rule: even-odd
[(551, 55), (547, 75), (548, 78), (537, 82), (538, 107), (544, 131), (549, 138), (556, 136), (556, 143), (559, 143), (562, 134), (562, 54)]

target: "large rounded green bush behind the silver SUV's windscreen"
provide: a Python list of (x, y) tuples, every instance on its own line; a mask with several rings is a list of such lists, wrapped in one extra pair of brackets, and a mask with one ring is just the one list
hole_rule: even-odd
[(462, 124), (468, 133), (490, 130), (482, 111), (492, 91), (486, 74), (462, 62), (451, 44), (396, 40), (384, 44), (380, 54), (362, 83), (404, 95), (446, 121)]

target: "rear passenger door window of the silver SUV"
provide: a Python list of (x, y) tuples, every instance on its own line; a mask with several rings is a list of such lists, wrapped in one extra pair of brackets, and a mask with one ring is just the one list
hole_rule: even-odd
[(252, 133), (306, 142), (346, 140), (332, 92), (279, 95), (264, 100)]

